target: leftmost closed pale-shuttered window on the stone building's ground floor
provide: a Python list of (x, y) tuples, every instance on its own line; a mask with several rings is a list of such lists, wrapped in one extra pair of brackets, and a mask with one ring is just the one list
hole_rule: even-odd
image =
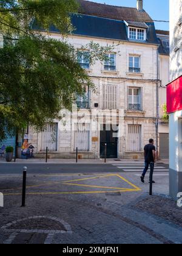
[(43, 132), (41, 132), (41, 151), (57, 151), (58, 140), (58, 124), (45, 124)]

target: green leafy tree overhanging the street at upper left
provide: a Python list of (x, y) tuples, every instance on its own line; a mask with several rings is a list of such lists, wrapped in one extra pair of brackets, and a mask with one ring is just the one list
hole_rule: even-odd
[[(0, 1), (0, 140), (4, 127), (11, 132), (29, 123), (41, 130), (62, 108), (71, 108), (75, 95), (84, 93), (83, 84), (93, 88), (77, 62), (78, 50), (67, 40), (74, 29), (70, 13), (78, 8), (76, 0)], [(39, 30), (33, 29), (35, 21)], [(50, 26), (61, 31), (62, 40), (49, 36)], [(103, 61), (113, 46), (90, 42), (85, 48), (93, 63)]]

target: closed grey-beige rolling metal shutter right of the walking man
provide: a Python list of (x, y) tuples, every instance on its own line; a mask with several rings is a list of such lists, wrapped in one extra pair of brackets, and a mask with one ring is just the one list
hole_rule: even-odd
[(169, 133), (160, 133), (160, 158), (169, 158)]

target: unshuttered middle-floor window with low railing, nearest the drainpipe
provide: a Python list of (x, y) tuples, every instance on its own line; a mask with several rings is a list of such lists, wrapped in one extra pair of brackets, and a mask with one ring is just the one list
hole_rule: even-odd
[(129, 88), (128, 108), (129, 110), (141, 110), (141, 88)]

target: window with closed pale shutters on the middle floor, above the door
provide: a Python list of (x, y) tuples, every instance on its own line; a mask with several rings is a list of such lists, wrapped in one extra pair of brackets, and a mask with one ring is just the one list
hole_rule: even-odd
[(103, 85), (103, 109), (117, 109), (117, 86)]

